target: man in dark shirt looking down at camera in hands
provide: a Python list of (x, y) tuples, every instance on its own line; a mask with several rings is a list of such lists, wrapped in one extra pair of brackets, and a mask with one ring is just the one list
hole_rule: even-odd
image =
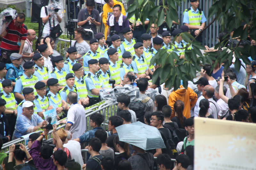
[[(87, 0), (86, 8), (79, 11), (77, 17), (77, 26), (81, 26), (84, 29), (91, 29), (94, 34), (97, 33), (96, 26), (100, 26), (100, 14), (99, 11), (94, 9), (95, 1)], [(92, 39), (92, 33), (86, 32), (84, 40), (87, 43)]]

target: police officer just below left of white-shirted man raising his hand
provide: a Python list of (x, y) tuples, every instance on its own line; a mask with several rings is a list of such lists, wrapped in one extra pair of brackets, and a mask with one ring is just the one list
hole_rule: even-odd
[(36, 53), (33, 56), (33, 60), (35, 63), (34, 76), (38, 78), (38, 81), (46, 83), (48, 78), (51, 78), (52, 76), (51, 73), (48, 71), (48, 68), (44, 67), (44, 56), (41, 53)]

